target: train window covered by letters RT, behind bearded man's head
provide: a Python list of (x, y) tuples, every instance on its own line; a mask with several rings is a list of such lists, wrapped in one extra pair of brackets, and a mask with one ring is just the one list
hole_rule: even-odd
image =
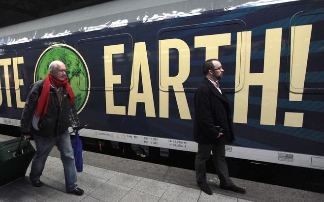
[[(161, 29), (158, 33), (159, 87), (163, 91), (194, 91), (203, 78), (201, 64), (218, 58), (225, 68), (222, 88), (238, 91), (243, 81), (241, 20), (209, 22)], [(237, 59), (239, 58), (239, 59)]]

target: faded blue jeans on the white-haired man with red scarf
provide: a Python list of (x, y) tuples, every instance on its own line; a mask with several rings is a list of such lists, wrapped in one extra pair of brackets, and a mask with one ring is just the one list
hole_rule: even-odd
[(66, 192), (75, 190), (78, 187), (76, 184), (76, 168), (68, 130), (57, 137), (42, 137), (35, 135), (34, 139), (36, 144), (36, 154), (32, 159), (32, 169), (29, 175), (31, 180), (39, 180), (39, 177), (44, 170), (48, 154), (56, 145), (61, 153), (61, 160), (64, 167)]

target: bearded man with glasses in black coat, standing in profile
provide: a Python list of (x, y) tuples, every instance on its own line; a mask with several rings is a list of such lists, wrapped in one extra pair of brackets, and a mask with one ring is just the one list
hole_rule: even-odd
[(194, 96), (194, 141), (198, 143), (195, 157), (196, 181), (200, 189), (212, 195), (206, 183), (206, 161), (213, 152), (214, 165), (220, 179), (220, 188), (245, 193), (229, 178), (225, 161), (225, 144), (234, 139), (231, 110), (227, 97), (218, 80), (223, 78), (224, 69), (218, 59), (208, 59), (202, 65), (205, 78)]

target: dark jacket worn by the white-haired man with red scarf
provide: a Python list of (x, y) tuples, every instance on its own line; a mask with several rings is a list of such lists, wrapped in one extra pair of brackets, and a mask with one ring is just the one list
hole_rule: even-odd
[(62, 101), (60, 103), (56, 94), (57, 88), (51, 85), (46, 115), (44, 118), (39, 119), (37, 123), (38, 130), (32, 127), (32, 119), (43, 85), (44, 80), (35, 82), (28, 93), (20, 121), (22, 135), (32, 133), (33, 135), (39, 136), (56, 136), (65, 132), (69, 126), (80, 126), (75, 106), (69, 104), (69, 98), (65, 88), (63, 87)]

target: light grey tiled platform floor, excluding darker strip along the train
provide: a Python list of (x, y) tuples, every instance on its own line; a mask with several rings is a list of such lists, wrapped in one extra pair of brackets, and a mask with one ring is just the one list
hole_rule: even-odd
[[(197, 189), (145, 177), (84, 165), (77, 173), (83, 196), (65, 193), (63, 165), (49, 156), (41, 180), (33, 187), (27, 176), (0, 188), (0, 202), (244, 202), (246, 200), (214, 193), (209, 196)], [(247, 202), (247, 201), (246, 201)]]

